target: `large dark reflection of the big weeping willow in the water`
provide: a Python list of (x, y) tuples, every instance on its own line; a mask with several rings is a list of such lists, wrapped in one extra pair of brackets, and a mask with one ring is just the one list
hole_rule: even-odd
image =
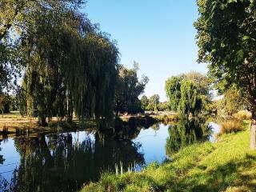
[(41, 134), (14, 138), (14, 143), (20, 165), (2, 191), (77, 191), (98, 180), (102, 171), (113, 171), (116, 163), (122, 162), (124, 170), (134, 162), (145, 164), (138, 143), (113, 140), (99, 132), (82, 142), (74, 141), (72, 134)]

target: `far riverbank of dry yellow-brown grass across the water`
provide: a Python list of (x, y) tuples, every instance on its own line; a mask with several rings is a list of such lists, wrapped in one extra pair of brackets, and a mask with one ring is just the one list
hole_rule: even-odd
[[(129, 124), (131, 126), (151, 126), (156, 122), (174, 122), (177, 121), (177, 114), (160, 113), (160, 114), (142, 114), (142, 115), (126, 115), (120, 116), (123, 124)], [(119, 122), (118, 122), (119, 123)], [(22, 117), (18, 111), (14, 111), (10, 114), (3, 114), (0, 118), (0, 134), (15, 134), (22, 132), (38, 133), (42, 131), (54, 131), (54, 130), (70, 130), (75, 126), (78, 127), (80, 122), (74, 118), (74, 122), (70, 125), (65, 121), (59, 122), (58, 118), (52, 118), (49, 126), (38, 126), (38, 118)], [(73, 126), (73, 127), (71, 127)], [(82, 128), (96, 128), (95, 122), (84, 122)], [(118, 124), (120, 126), (120, 124)]]

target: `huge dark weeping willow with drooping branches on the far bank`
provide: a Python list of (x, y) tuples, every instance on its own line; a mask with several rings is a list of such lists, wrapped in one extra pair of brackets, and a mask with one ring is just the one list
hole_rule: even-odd
[[(36, 103), (39, 123), (54, 115), (71, 119), (113, 117), (118, 49), (87, 18), (69, 11), (61, 20), (46, 11), (24, 38), (24, 82)], [(50, 32), (49, 32), (50, 30)]]

